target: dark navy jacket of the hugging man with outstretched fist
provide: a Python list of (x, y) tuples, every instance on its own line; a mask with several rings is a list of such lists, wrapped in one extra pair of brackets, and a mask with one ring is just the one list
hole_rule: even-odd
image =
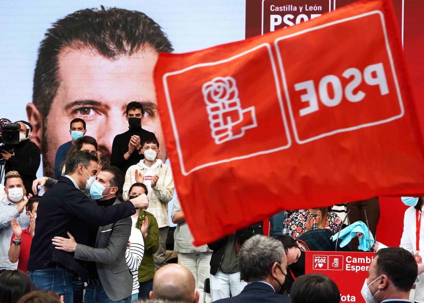
[(88, 222), (103, 226), (135, 213), (130, 201), (107, 208), (98, 206), (67, 177), (61, 177), (40, 199), (37, 225), (31, 243), (28, 270), (46, 269), (52, 262), (73, 270), (82, 278), (87, 275), (87, 262), (74, 258), (74, 252), (56, 250), (51, 239), (68, 238), (67, 231), (79, 244), (88, 244)]

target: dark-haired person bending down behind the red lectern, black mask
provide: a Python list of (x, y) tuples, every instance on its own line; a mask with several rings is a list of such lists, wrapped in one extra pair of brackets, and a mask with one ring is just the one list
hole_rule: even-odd
[[(331, 236), (334, 233), (326, 229), (310, 230), (302, 234), (294, 240), (291, 236), (281, 235), (276, 239), (281, 241), (287, 255), (287, 278), (281, 289), (281, 294), (287, 292), (290, 294), (290, 289), (297, 277), (305, 274), (305, 251), (336, 251), (335, 242)], [(349, 245), (340, 247), (338, 243), (337, 251), (352, 251)]]

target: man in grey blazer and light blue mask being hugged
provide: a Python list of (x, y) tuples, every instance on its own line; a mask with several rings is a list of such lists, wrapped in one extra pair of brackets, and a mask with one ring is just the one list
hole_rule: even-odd
[[(120, 203), (124, 173), (116, 166), (103, 166), (90, 190), (100, 206)], [(74, 258), (88, 260), (88, 283), (85, 303), (131, 301), (133, 277), (129, 272), (125, 251), (131, 233), (131, 218), (105, 226), (90, 224), (88, 245), (77, 244), (75, 238), (54, 237), (56, 249), (75, 252)]]

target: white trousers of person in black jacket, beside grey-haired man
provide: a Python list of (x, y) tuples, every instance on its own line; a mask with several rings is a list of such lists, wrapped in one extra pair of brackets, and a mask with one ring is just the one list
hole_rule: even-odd
[(240, 272), (226, 274), (218, 271), (216, 275), (211, 275), (211, 299), (212, 302), (225, 299), (230, 296), (234, 297), (240, 294), (247, 282), (241, 280)]

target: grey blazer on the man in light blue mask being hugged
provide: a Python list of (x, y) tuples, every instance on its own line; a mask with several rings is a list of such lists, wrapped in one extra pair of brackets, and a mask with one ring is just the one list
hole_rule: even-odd
[[(115, 200), (114, 205), (120, 203)], [(100, 226), (95, 247), (77, 244), (74, 258), (95, 261), (100, 282), (111, 301), (131, 296), (133, 277), (125, 259), (131, 218)]]

